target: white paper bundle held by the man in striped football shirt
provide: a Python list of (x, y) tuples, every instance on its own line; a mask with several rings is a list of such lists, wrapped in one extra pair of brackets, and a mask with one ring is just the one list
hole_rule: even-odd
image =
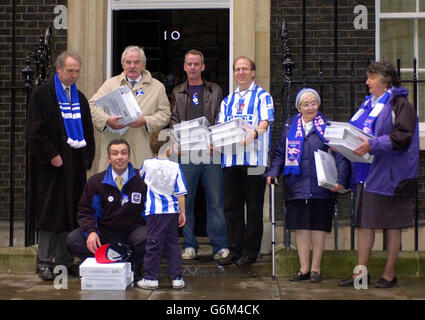
[(245, 139), (247, 129), (254, 130), (254, 127), (241, 118), (232, 119), (210, 127), (210, 141), (214, 148), (231, 149), (236, 153), (237, 144)]

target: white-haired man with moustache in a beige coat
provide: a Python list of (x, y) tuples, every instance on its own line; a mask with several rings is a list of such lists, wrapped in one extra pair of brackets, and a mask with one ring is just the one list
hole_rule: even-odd
[[(149, 133), (160, 130), (168, 125), (171, 111), (164, 85), (152, 78), (145, 69), (146, 56), (142, 48), (128, 46), (121, 56), (123, 72), (106, 80), (96, 94), (90, 99), (90, 109), (94, 127), (101, 132), (100, 157), (98, 171), (108, 167), (106, 146), (114, 138), (128, 141), (131, 147), (130, 162), (140, 168), (145, 159), (153, 157), (149, 148)], [(111, 129), (119, 130), (126, 126), (118, 120), (121, 117), (110, 116), (99, 108), (95, 101), (120, 86), (129, 86), (142, 109), (142, 115), (129, 123), (128, 130), (120, 136)]]

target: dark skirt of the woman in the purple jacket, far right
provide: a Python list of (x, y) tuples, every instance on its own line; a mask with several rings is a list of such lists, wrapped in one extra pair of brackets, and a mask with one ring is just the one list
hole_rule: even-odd
[(368, 229), (401, 229), (413, 226), (413, 200), (370, 193), (357, 185), (355, 226)]

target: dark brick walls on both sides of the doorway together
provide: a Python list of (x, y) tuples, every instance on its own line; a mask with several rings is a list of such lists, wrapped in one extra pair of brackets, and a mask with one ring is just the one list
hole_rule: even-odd
[[(0, 217), (9, 216), (9, 163), (10, 163), (10, 115), (11, 115), (11, 56), (12, 56), (12, 4), (0, 4)], [(51, 26), (53, 31), (52, 56), (66, 49), (67, 30), (54, 29), (53, 12), (56, 5), (67, 5), (66, 0), (15, 0), (16, 4), (16, 154), (15, 154), (15, 216), (23, 216), (25, 186), (25, 92), (21, 70), (25, 66), (25, 58), (38, 45), (41, 31)], [(353, 9), (362, 4), (368, 8), (368, 29), (355, 30)], [(334, 67), (334, 1), (306, 1), (306, 80), (319, 79), (320, 60), (323, 61), (323, 79), (335, 78)], [(289, 47), (295, 63), (294, 80), (300, 81), (302, 73), (302, 1), (272, 0), (271, 8), (271, 93), (275, 100), (276, 122), (273, 127), (273, 142), (282, 129), (284, 121), (284, 101), (282, 100), (283, 70), (281, 47), (281, 20), (288, 22)], [(338, 0), (338, 78), (351, 76), (351, 61), (354, 65), (354, 80), (364, 81), (368, 60), (374, 59), (375, 27), (374, 0)], [(32, 66), (34, 68), (34, 66)], [(354, 103), (347, 97), (348, 85), (311, 85), (322, 95), (323, 111), (330, 119), (346, 121), (353, 108), (357, 108), (364, 98), (366, 89), (363, 83), (354, 86)], [(294, 84), (293, 99), (300, 84)], [(334, 96), (338, 103), (335, 103)], [(293, 101), (290, 101), (293, 106)], [(292, 107), (291, 113), (295, 109)], [(425, 208), (425, 153), (421, 153), (419, 207), (423, 215)], [(280, 185), (277, 199), (283, 199)], [(340, 212), (349, 212), (348, 196), (340, 197)], [(282, 215), (282, 203), (277, 206), (277, 215)]]

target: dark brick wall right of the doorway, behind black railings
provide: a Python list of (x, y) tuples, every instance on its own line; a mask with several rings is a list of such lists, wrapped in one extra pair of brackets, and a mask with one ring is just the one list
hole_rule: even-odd
[[(374, 0), (338, 0), (337, 15), (337, 64), (334, 54), (334, 2), (333, 0), (307, 0), (306, 1), (306, 32), (305, 32), (305, 80), (319, 80), (320, 61), (323, 65), (323, 80), (338, 79), (349, 81), (351, 78), (359, 83), (353, 84), (352, 103), (350, 97), (350, 85), (306, 84), (319, 91), (322, 98), (322, 107), (325, 115), (331, 120), (348, 121), (353, 110), (358, 106), (367, 93), (364, 81), (368, 61), (375, 59), (375, 1)], [(354, 28), (353, 13), (357, 5), (365, 5), (368, 9), (368, 29), (356, 30)], [(281, 21), (286, 20), (288, 24), (288, 46), (291, 49), (292, 60), (295, 63), (293, 80), (303, 79), (303, 39), (302, 39), (302, 1), (301, 0), (272, 0), (271, 7), (271, 93), (275, 100), (276, 121), (273, 127), (273, 143), (276, 141), (283, 126), (286, 113), (284, 112), (286, 100), (282, 98), (282, 87), (284, 86), (284, 70), (282, 68), (283, 50), (281, 41)], [(335, 73), (335, 65), (337, 73)], [(354, 73), (352, 77), (352, 67)], [(290, 92), (291, 111), (295, 113), (293, 99), (296, 92), (303, 87), (302, 83), (293, 84)], [(425, 201), (424, 171), (425, 155), (421, 154), (420, 182), (419, 182), (419, 208), (423, 215)], [(283, 215), (283, 188), (280, 186), (276, 191), (279, 203), (277, 215)], [(350, 214), (351, 202), (349, 194), (339, 196), (339, 213), (343, 216)]]

